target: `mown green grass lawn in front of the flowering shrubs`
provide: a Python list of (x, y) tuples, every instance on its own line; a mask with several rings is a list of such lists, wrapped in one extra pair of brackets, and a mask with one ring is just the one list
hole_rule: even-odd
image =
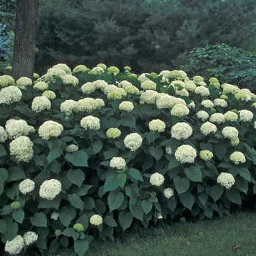
[[(44, 256), (56, 256), (46, 253)], [(75, 256), (64, 249), (60, 256)], [(130, 230), (115, 241), (96, 240), (86, 256), (256, 256), (256, 212), (222, 219), (162, 223), (147, 230)]]

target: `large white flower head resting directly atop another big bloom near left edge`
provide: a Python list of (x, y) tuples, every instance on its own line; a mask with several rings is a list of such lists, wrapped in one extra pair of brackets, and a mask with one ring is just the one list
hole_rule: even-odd
[(5, 130), (10, 140), (16, 139), (20, 136), (29, 135), (30, 129), (27, 122), (23, 119), (10, 119), (5, 124)]

